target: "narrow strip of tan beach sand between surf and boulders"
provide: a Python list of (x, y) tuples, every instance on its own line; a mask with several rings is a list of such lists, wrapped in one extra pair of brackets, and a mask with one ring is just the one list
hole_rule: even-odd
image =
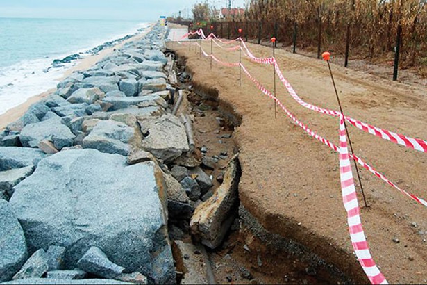
[[(73, 67), (70, 67), (68, 70), (65, 70), (65, 72), (62, 74), (62, 77), (58, 78), (58, 82), (62, 81), (63, 79), (67, 78), (70, 74), (76, 71), (81, 70), (87, 70), (88, 68), (92, 67), (95, 63), (97, 63), (102, 58), (108, 56), (108, 54), (111, 54), (114, 49), (120, 49), (126, 44), (127, 42), (133, 42), (135, 40), (140, 40), (141, 38), (144, 38), (144, 36), (153, 29), (154, 23), (149, 23), (149, 26), (146, 28), (146, 31), (139, 33), (132, 38), (128, 38), (128, 40), (124, 40), (123, 42), (120, 42), (119, 44), (115, 44), (115, 46), (109, 47), (108, 49), (103, 49), (98, 54), (94, 54), (91, 56), (87, 56), (86, 58), (83, 58), (81, 60), (77, 61), (77, 64)], [(34, 95), (32, 97), (29, 97), (24, 103), (19, 104), (13, 108), (10, 108), (6, 113), (3, 113), (0, 115), (0, 131), (6, 128), (8, 124), (11, 122), (15, 122), (19, 119), (19, 117), (22, 117), (24, 113), (28, 110), (28, 108), (34, 104), (37, 101), (40, 101), (41, 99), (51, 95), (53, 92), (56, 91), (56, 88), (51, 88), (49, 90), (46, 90), (40, 94)]]

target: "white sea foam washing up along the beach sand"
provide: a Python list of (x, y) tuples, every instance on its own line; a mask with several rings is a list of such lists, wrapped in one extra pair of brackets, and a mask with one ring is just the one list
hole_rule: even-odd
[[(123, 38), (126, 35), (133, 35), (137, 32), (137, 29), (147, 28), (148, 26), (149, 24), (145, 23), (139, 24), (129, 33), (115, 35), (114, 38), (93, 43), (86, 49), (75, 51), (73, 54), (82, 53), (82, 58), (84, 58), (89, 55), (85, 51), (104, 42)], [(57, 58), (62, 59), (69, 54), (64, 54), (64, 56)], [(0, 67), (0, 115), (24, 103), (30, 97), (55, 88), (58, 84), (58, 79), (62, 78), (64, 72), (79, 62), (79, 60), (74, 60), (72, 63), (65, 63), (61, 67), (53, 68), (53, 59), (56, 58), (23, 60), (12, 66)]]

